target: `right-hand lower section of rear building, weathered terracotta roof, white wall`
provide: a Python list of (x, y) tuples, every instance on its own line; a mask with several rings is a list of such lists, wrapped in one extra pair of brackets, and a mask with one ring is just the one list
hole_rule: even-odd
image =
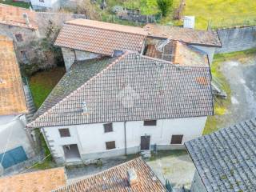
[(216, 31), (194, 30), (178, 26), (160, 26), (147, 24), (144, 29), (148, 32), (148, 43), (170, 39), (184, 42), (186, 45), (194, 46), (208, 55), (210, 64), (214, 58), (216, 48), (222, 47)]

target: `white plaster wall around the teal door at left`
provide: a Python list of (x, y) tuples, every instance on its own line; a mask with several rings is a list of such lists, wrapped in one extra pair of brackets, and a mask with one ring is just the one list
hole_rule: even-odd
[(34, 151), (26, 135), (26, 117), (22, 115), (18, 118), (18, 116), (19, 115), (0, 116), (0, 154), (5, 151), (5, 148), (6, 151), (8, 151), (22, 146), (28, 158), (30, 158)]

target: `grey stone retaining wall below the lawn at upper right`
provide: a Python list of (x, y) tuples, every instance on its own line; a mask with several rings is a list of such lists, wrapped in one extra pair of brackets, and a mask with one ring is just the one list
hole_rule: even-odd
[(221, 29), (218, 30), (218, 35), (222, 42), (222, 48), (216, 50), (217, 54), (256, 47), (256, 26)]

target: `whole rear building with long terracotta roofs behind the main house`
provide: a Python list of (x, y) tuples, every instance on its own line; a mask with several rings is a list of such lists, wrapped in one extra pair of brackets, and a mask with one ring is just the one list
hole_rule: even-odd
[[(65, 22), (54, 44), (62, 47), (66, 70), (69, 70), (74, 61), (102, 56), (113, 57), (122, 54), (124, 50), (148, 55), (146, 52), (154, 48), (161, 55), (158, 58), (165, 59), (163, 54), (168, 54), (169, 57), (174, 54), (174, 42), (180, 42), (178, 47), (181, 47), (179, 45), (182, 43), (184, 51), (187, 46), (187, 50), (206, 54), (210, 63), (216, 47), (222, 46), (215, 32), (154, 24), (141, 28), (82, 18)], [(164, 50), (168, 53), (162, 53)], [(193, 55), (191, 57), (193, 58)]]

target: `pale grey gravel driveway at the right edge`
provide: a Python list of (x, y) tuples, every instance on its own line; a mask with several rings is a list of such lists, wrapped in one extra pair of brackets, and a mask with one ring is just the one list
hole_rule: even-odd
[(256, 117), (256, 56), (230, 60), (221, 65), (231, 89), (231, 105), (224, 126)]

